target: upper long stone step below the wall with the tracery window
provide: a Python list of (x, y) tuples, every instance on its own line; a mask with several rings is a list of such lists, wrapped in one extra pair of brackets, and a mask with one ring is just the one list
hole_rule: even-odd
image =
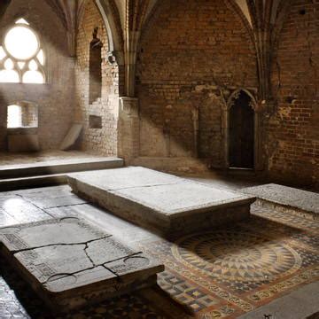
[(122, 167), (123, 164), (123, 159), (119, 158), (92, 157), (85, 159), (58, 159), (28, 164), (5, 165), (0, 167), (0, 179), (108, 169)]

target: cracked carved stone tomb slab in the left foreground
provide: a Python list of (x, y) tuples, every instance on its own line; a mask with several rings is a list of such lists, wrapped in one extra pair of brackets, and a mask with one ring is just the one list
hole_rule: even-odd
[(52, 310), (67, 312), (156, 284), (164, 266), (75, 217), (0, 229), (0, 252)]

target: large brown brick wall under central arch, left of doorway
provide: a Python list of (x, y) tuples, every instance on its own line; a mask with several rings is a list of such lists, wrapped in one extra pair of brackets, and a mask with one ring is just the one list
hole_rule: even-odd
[(222, 0), (163, 0), (142, 35), (137, 59), (140, 155), (198, 155), (221, 166), (224, 85), (257, 87), (249, 35)]

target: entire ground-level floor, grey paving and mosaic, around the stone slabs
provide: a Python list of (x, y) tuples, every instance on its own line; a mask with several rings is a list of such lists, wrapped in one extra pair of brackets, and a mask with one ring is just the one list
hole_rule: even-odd
[[(97, 208), (91, 206), (86, 211), (86, 205), (65, 187), (48, 190), (43, 191), (46, 197), (43, 193), (31, 196), (28, 191), (19, 194), (19, 206), (11, 209), (2, 200), (7, 203), (18, 195), (0, 193), (0, 227), (14, 219), (23, 222), (24, 205), (32, 212), (26, 222), (70, 212), (96, 214)], [(58, 197), (56, 208), (52, 208), (54, 200), (50, 197)], [(48, 198), (50, 208), (45, 208), (48, 205), (40, 202)], [(36, 209), (31, 209), (33, 205)], [(253, 206), (252, 211), (247, 222), (170, 240), (144, 236), (140, 230), (137, 244), (166, 266), (159, 275), (161, 289), (135, 292), (63, 318), (237, 318), (318, 280), (319, 223), (261, 206)], [(115, 223), (109, 214), (103, 213), (101, 218), (105, 219), (101, 224), (121, 227), (121, 222)], [(27, 284), (0, 261), (0, 318), (58, 316), (50, 315)]]

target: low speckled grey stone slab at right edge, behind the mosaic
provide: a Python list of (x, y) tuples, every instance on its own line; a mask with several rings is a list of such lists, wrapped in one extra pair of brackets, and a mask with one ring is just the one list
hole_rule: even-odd
[(281, 206), (315, 214), (316, 217), (319, 215), (319, 194), (311, 191), (302, 191), (275, 183), (248, 187), (241, 191)]

